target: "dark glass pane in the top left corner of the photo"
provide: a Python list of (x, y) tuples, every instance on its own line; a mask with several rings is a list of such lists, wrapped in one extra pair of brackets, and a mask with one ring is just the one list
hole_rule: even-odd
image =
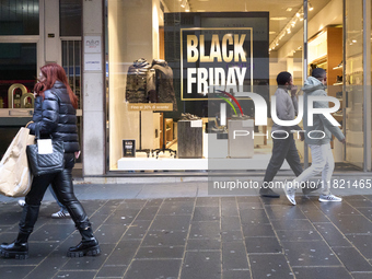
[(0, 35), (38, 35), (38, 0), (0, 0)]

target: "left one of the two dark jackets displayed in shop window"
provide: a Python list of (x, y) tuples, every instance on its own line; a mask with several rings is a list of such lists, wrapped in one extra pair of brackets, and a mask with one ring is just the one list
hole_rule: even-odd
[(126, 100), (129, 103), (149, 103), (147, 95), (147, 75), (151, 65), (140, 58), (128, 69)]

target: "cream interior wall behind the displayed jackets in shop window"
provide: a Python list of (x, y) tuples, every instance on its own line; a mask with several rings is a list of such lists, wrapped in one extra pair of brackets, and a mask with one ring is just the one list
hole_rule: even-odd
[(154, 126), (152, 112), (128, 111), (126, 80), (128, 68), (139, 58), (149, 63), (159, 58), (159, 0), (111, 0), (108, 2), (108, 67), (109, 67), (109, 167), (117, 168), (123, 156), (123, 139), (135, 139), (139, 149), (152, 149)]

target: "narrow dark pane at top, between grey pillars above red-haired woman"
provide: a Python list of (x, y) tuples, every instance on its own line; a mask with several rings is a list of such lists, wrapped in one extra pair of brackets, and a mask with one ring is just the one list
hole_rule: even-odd
[(81, 36), (81, 0), (60, 0), (60, 35)]

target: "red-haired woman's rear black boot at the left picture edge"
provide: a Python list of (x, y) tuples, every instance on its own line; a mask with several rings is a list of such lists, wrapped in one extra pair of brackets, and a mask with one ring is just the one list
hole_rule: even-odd
[(5, 258), (26, 259), (28, 257), (28, 236), (30, 234), (21, 232), (12, 243), (2, 243), (0, 245), (0, 255)]

